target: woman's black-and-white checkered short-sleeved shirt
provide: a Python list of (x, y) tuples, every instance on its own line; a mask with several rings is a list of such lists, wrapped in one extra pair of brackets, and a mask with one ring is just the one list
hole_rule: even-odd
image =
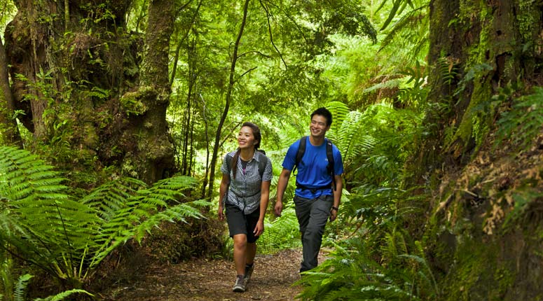
[[(235, 151), (226, 154), (226, 156), (233, 157)], [(227, 166), (226, 156), (223, 160), (223, 165), (221, 165), (221, 172), (223, 174), (228, 174), (228, 170), (231, 169)], [(230, 187), (226, 193), (225, 202), (229, 204), (234, 204), (244, 214), (251, 214), (256, 208), (260, 205), (260, 188), (261, 181), (271, 181), (272, 179), (272, 166), (270, 160), (266, 164), (264, 173), (262, 174), (262, 180), (260, 179), (259, 173), (259, 161), (266, 160), (263, 153), (258, 151), (254, 152), (253, 158), (247, 162), (247, 167), (245, 172), (243, 172), (243, 167), (241, 164), (241, 156), (238, 156), (238, 167), (235, 172), (235, 179), (233, 178), (233, 170), (230, 171)]]

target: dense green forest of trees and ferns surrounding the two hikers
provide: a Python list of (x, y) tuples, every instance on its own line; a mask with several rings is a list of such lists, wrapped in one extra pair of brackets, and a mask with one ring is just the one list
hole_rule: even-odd
[(231, 260), (245, 121), (273, 162), (259, 252), (299, 248), (275, 187), (320, 106), (345, 185), (298, 300), (543, 299), (542, 1), (0, 7), (1, 300), (101, 300), (133, 254)]

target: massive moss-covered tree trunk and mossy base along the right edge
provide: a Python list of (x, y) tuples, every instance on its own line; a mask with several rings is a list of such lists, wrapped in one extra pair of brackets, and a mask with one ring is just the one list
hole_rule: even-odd
[[(507, 109), (511, 101), (493, 96), (510, 83), (523, 87), (543, 83), (543, 3), (432, 0), (430, 8), (432, 110), (425, 125), (430, 134), (411, 167), (418, 171), (414, 174), (419, 184), (440, 188), (424, 239), (441, 280), (441, 299), (537, 300), (543, 295), (536, 284), (543, 281), (536, 263), (543, 241), (529, 233), (542, 221), (515, 225), (507, 234), (484, 230), (492, 221), (489, 217), (507, 212), (500, 211), (507, 202), (500, 205), (497, 196), (506, 195), (498, 190), (509, 189), (509, 184), (498, 185), (500, 174), (486, 178), (462, 168), (472, 166), (477, 152), (488, 146), (497, 108)], [(528, 89), (512, 96), (523, 93)], [(421, 166), (425, 170), (420, 171)], [(413, 228), (420, 229), (419, 225)]]

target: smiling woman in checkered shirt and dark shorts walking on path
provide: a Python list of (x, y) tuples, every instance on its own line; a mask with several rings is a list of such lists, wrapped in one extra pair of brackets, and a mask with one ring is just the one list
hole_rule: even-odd
[[(219, 188), (219, 220), (226, 221), (234, 239), (235, 292), (245, 292), (254, 269), (256, 239), (264, 232), (264, 216), (270, 195), (271, 161), (257, 151), (262, 135), (254, 123), (243, 123), (238, 149), (224, 158)], [(265, 163), (265, 164), (264, 164)], [(261, 172), (261, 166), (264, 166)]]

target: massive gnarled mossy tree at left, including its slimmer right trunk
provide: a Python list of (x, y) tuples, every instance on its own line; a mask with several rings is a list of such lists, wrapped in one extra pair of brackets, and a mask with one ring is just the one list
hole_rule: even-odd
[(130, 0), (15, 1), (6, 55), (33, 137), (25, 142), (79, 171), (72, 180), (92, 185), (114, 167), (152, 182), (173, 168), (165, 109), (175, 3), (151, 1), (143, 35), (127, 29)]

